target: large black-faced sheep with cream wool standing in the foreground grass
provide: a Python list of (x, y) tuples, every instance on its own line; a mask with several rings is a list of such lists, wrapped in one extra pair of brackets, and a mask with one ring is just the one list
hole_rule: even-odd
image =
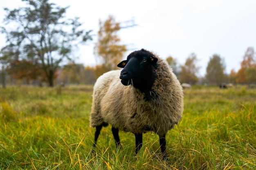
[(94, 85), (90, 115), (90, 126), (96, 127), (93, 148), (102, 126), (111, 124), (117, 147), (121, 146), (119, 130), (135, 135), (135, 154), (142, 146), (142, 134), (155, 132), (167, 159), (166, 133), (183, 115), (180, 82), (165, 60), (145, 49), (133, 51), (117, 66), (123, 70), (104, 73)]

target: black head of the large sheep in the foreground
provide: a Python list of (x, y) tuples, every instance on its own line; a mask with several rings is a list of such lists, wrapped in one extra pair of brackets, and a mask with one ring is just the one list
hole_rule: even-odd
[(124, 68), (120, 75), (121, 83), (125, 86), (132, 84), (143, 92), (149, 91), (155, 82), (156, 63), (157, 58), (144, 49), (130, 53), (127, 60), (117, 65)]

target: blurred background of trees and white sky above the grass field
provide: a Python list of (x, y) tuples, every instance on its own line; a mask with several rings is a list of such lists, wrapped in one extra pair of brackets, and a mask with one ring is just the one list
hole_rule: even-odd
[(2, 0), (0, 83), (94, 84), (132, 51), (181, 83), (256, 84), (254, 0)]

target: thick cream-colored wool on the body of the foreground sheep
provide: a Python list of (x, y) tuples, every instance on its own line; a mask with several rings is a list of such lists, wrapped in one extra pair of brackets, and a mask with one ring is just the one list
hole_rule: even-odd
[(154, 131), (166, 134), (182, 118), (183, 91), (167, 62), (157, 55), (157, 78), (151, 88), (150, 100), (132, 85), (124, 86), (121, 70), (101, 75), (94, 85), (90, 124), (105, 123), (135, 134)]

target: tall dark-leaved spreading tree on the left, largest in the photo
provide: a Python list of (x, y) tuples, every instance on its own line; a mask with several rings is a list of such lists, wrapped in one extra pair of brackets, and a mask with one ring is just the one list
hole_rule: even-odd
[(79, 18), (65, 17), (68, 7), (58, 7), (49, 0), (22, 1), (26, 7), (4, 9), (7, 15), (2, 33), (6, 35), (7, 46), (2, 51), (8, 53), (13, 63), (23, 59), (34, 64), (49, 86), (53, 86), (60, 64), (71, 59), (76, 44), (92, 40), (91, 31), (80, 28)]

